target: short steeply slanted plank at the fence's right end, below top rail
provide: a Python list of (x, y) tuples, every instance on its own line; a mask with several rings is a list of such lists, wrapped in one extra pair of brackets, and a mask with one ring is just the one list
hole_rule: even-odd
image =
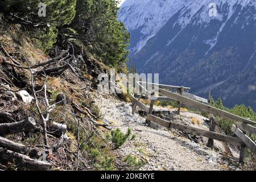
[(231, 129), (234, 134), (237, 135), (238, 138), (240, 138), (243, 143), (246, 144), (248, 148), (250, 148), (251, 152), (254, 152), (256, 154), (256, 144), (251, 140), (246, 134), (244, 134), (240, 129), (238, 129), (235, 125), (232, 126)]

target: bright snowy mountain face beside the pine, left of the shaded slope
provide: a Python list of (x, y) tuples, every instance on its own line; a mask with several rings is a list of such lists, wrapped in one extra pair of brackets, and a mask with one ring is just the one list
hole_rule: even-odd
[(139, 42), (131, 47), (131, 52), (139, 51), (147, 40), (152, 38), (186, 1), (174, 0), (126, 0), (119, 10), (119, 19), (125, 22), (129, 31), (139, 31)]

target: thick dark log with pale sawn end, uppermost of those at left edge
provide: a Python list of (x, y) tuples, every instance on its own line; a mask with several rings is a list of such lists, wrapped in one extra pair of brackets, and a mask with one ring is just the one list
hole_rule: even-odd
[(36, 122), (34, 118), (28, 117), (23, 121), (0, 124), (0, 135), (21, 133), (32, 129), (36, 129)]

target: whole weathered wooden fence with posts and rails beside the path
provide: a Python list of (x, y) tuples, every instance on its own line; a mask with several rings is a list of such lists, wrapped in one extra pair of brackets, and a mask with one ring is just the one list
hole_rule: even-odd
[[(242, 118), (232, 113), (228, 113), (227, 111), (217, 109), (213, 106), (210, 106), (209, 100), (206, 100), (205, 98), (201, 98), (188, 93), (187, 91), (190, 88), (183, 87), (183, 86), (147, 83), (147, 84), (152, 84), (154, 85), (154, 88), (159, 89), (160, 96), (152, 96), (152, 94), (148, 92), (147, 88), (143, 87), (141, 83), (137, 82), (137, 84), (141, 86), (142, 90), (146, 90), (146, 94), (134, 94), (134, 96), (132, 95), (131, 96), (133, 100), (132, 107), (133, 107), (133, 113), (136, 110), (137, 106), (147, 113), (146, 122), (148, 123), (148, 126), (150, 126), (152, 124), (151, 122), (153, 122), (156, 125), (164, 126), (164, 127), (167, 127), (168, 129), (179, 129), (181, 131), (186, 131), (189, 133), (207, 137), (209, 138), (208, 144), (207, 144), (208, 147), (213, 147), (213, 139), (220, 140), (227, 153), (230, 152), (230, 149), (226, 143), (232, 143), (235, 146), (240, 146), (241, 147), (240, 149), (241, 163), (245, 158), (246, 148), (249, 148), (252, 152), (254, 152), (254, 154), (256, 154), (256, 144), (253, 140), (251, 140), (248, 137), (250, 133), (256, 135), (256, 127), (251, 126), (251, 125), (256, 125), (256, 122), (251, 121), (250, 119), (247, 119), (247, 118)], [(141, 98), (150, 100), (150, 107), (148, 107), (147, 105), (144, 105), (141, 101), (139, 101)], [(178, 113), (180, 113), (180, 107), (182, 104), (188, 107), (192, 107), (193, 109), (203, 111), (204, 113), (209, 113), (210, 114), (209, 131), (197, 129), (196, 127), (192, 127), (192, 126), (181, 125), (180, 123), (166, 121), (159, 117), (155, 117), (154, 115), (152, 115), (155, 101), (177, 101), (179, 103)], [(216, 118), (214, 116), (219, 116), (224, 119), (228, 119), (229, 121), (234, 121), (236, 125), (232, 126), (232, 131), (234, 134), (236, 134), (237, 138), (222, 134), (220, 127), (218, 127), (216, 123)]]

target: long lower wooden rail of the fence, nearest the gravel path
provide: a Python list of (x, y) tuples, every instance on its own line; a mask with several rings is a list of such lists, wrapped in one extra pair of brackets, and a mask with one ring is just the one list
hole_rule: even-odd
[(175, 123), (175, 122), (166, 121), (164, 119), (155, 117), (154, 115), (151, 115), (151, 114), (147, 115), (147, 119), (150, 120), (151, 122), (158, 123), (159, 125), (165, 126), (169, 129), (173, 128), (173, 129), (183, 130), (183, 131), (186, 131), (189, 133), (202, 135), (207, 138), (220, 140), (222, 142), (232, 143), (236, 146), (241, 146), (243, 144), (242, 140), (239, 138), (230, 137), (228, 135), (219, 134), (219, 133), (215, 133), (212, 131), (206, 131), (206, 130), (202, 130), (202, 129), (197, 129), (192, 126), (181, 125), (181, 124)]

